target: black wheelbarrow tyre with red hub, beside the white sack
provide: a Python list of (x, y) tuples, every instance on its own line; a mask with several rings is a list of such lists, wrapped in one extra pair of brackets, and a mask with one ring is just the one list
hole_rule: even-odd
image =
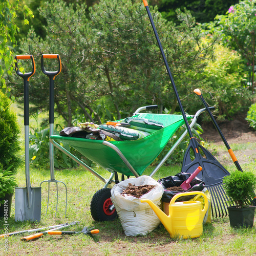
[(95, 221), (113, 221), (117, 218), (117, 212), (114, 208), (111, 197), (111, 188), (101, 188), (93, 196), (91, 201), (91, 215)]

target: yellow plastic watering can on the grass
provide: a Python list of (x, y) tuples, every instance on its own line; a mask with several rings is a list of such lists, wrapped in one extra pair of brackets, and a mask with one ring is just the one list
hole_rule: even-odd
[[(199, 201), (175, 202), (179, 197), (200, 195), (204, 197), (204, 208)], [(175, 195), (169, 204), (169, 216), (160, 210), (151, 200), (141, 199), (155, 211), (171, 238), (196, 238), (203, 232), (203, 219), (208, 209), (208, 198), (201, 191), (184, 192)]]

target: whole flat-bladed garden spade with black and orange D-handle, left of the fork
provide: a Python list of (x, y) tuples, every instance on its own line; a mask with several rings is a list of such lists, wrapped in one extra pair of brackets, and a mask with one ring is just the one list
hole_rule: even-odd
[[(18, 59), (31, 59), (32, 71), (22, 73), (18, 69)], [(24, 80), (24, 126), (25, 126), (25, 174), (26, 187), (15, 188), (15, 221), (37, 221), (41, 219), (41, 187), (31, 187), (29, 174), (29, 78), (35, 73), (32, 55), (15, 56), (15, 71)]]

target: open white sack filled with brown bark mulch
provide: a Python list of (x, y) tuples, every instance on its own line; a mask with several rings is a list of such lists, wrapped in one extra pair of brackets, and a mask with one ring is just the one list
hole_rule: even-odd
[[(124, 194), (123, 189), (129, 186), (129, 183), (135, 186), (156, 185), (150, 192), (141, 198), (136, 198)], [(113, 186), (111, 189), (111, 200), (115, 205), (117, 214), (121, 221), (126, 236), (145, 235), (153, 231), (159, 224), (160, 220), (148, 203), (141, 203), (141, 199), (150, 199), (159, 208), (164, 188), (161, 184), (149, 176), (127, 179)]]

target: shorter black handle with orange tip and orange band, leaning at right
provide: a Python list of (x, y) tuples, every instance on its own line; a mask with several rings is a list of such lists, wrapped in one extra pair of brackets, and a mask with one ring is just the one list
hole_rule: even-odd
[(207, 110), (207, 112), (208, 112), (208, 114), (209, 114), (209, 116), (210, 116), (212, 122), (214, 123), (214, 126), (215, 126), (216, 130), (218, 131), (219, 135), (221, 136), (221, 138), (222, 138), (222, 140), (223, 140), (223, 142), (224, 142), (224, 144), (225, 144), (225, 146), (226, 146), (226, 148), (227, 148), (227, 151), (228, 151), (230, 157), (232, 158), (232, 160), (233, 160), (233, 162), (234, 162), (234, 165), (236, 165), (236, 167), (237, 167), (238, 170), (241, 170), (241, 172), (243, 172), (243, 170), (242, 170), (242, 168), (241, 168), (241, 166), (240, 166), (240, 164), (239, 164), (239, 162), (238, 162), (236, 156), (234, 155), (234, 153), (233, 153), (233, 151), (231, 150), (231, 148), (230, 148), (230, 146), (229, 146), (227, 140), (225, 139), (223, 133), (221, 132), (220, 126), (218, 125), (218, 123), (216, 122), (214, 116), (212, 115), (211, 111), (209, 110), (209, 107), (208, 107), (208, 105), (207, 105), (207, 103), (206, 103), (206, 101), (205, 101), (205, 99), (204, 99), (204, 97), (203, 97), (201, 91), (200, 91), (199, 89), (195, 89), (195, 90), (194, 90), (194, 93), (197, 94), (198, 97), (199, 97), (199, 98), (201, 99), (201, 101), (203, 102), (203, 104), (204, 104), (204, 106), (205, 106), (205, 109)]

